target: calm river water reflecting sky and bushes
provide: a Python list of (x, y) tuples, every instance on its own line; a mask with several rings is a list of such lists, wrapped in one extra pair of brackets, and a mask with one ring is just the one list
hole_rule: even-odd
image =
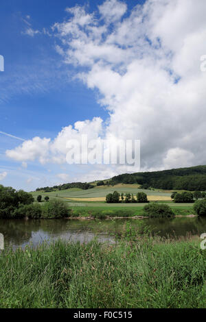
[(24, 247), (44, 240), (58, 238), (65, 240), (88, 242), (94, 237), (100, 242), (114, 243), (114, 235), (121, 235), (126, 223), (133, 229), (144, 230), (150, 227), (153, 234), (160, 236), (200, 235), (206, 232), (205, 218), (174, 218), (174, 219), (117, 219), (117, 220), (78, 220), (78, 219), (47, 219), (39, 221), (0, 220), (0, 232), (5, 238), (5, 247)]

